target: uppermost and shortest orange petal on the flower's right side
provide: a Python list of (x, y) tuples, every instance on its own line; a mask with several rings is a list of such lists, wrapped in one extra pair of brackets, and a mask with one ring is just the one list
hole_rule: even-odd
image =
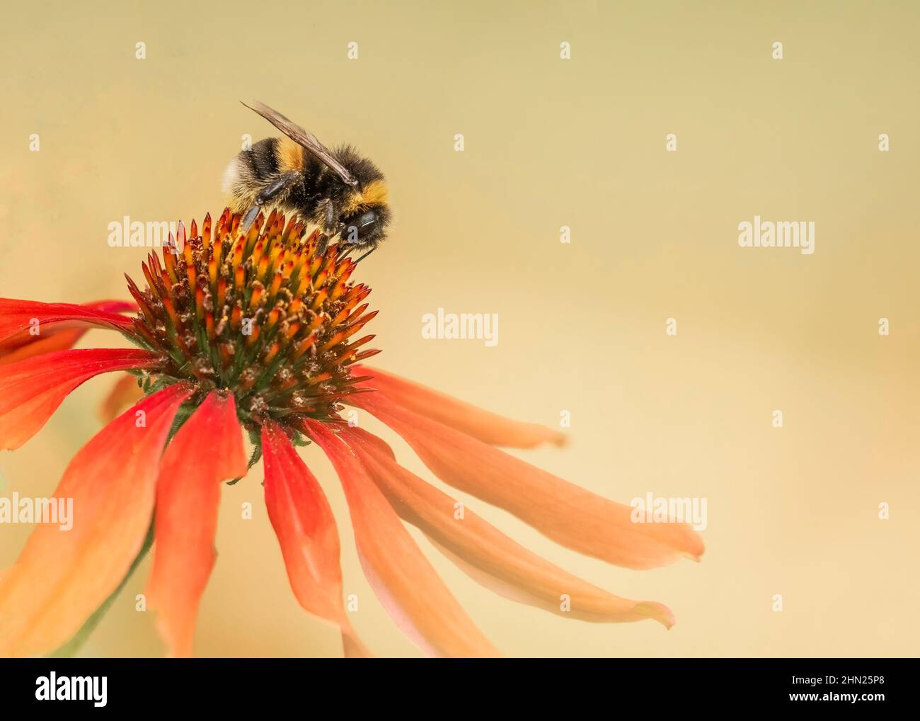
[(478, 438), (492, 446), (512, 448), (535, 448), (544, 443), (562, 446), (566, 436), (545, 425), (512, 421), (497, 413), (489, 413), (465, 401), (401, 378), (379, 368), (354, 366), (355, 376), (372, 375), (373, 379), (361, 383), (362, 388), (373, 388), (386, 396), (387, 400), (419, 413), (432, 421), (449, 425), (454, 430)]

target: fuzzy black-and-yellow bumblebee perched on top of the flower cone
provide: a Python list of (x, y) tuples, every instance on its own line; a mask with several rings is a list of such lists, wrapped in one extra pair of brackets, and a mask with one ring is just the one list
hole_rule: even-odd
[(338, 237), (343, 251), (366, 250), (359, 261), (373, 252), (392, 216), (380, 169), (351, 145), (329, 150), (267, 105), (243, 105), (284, 134), (243, 150), (224, 171), (232, 210), (246, 213), (243, 232), (260, 210), (277, 207), (318, 227), (323, 248)]

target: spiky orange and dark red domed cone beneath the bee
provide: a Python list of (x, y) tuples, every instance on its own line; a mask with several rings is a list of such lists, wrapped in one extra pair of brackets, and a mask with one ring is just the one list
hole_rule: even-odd
[(142, 263), (146, 290), (128, 277), (136, 335), (167, 358), (166, 382), (233, 392), (244, 422), (337, 421), (339, 401), (366, 380), (349, 366), (379, 353), (360, 350), (373, 335), (355, 340), (376, 315), (362, 303), (371, 289), (349, 282), (347, 252), (324, 250), (318, 231), (305, 238), (294, 217), (259, 215), (246, 235), (240, 219), (226, 208), (212, 228), (208, 214), (188, 237), (180, 223), (162, 263), (155, 253)]

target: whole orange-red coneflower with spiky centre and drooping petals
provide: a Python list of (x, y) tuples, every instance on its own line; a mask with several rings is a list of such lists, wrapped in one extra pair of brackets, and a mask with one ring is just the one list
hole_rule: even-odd
[[(293, 218), (259, 216), (247, 234), (229, 210), (188, 237), (179, 225), (162, 259), (143, 263), (136, 303), (0, 299), (0, 448), (35, 435), (66, 395), (109, 371), (143, 395), (70, 462), (55, 493), (73, 498), (74, 527), (40, 525), (0, 572), (0, 655), (65, 644), (121, 587), (155, 540), (149, 606), (170, 655), (190, 656), (201, 592), (214, 563), (220, 484), (261, 459), (265, 502), (300, 604), (367, 655), (342, 603), (339, 534), (295, 447), (321, 448), (344, 488), (362, 567), (386, 610), (437, 656), (493, 656), (403, 524), (477, 581), (512, 599), (591, 622), (673, 623), (657, 602), (621, 599), (550, 564), (407, 471), (383, 440), (340, 416), (357, 406), (388, 425), (434, 475), (522, 518), (576, 551), (647, 569), (703, 544), (685, 524), (634, 524), (631, 508), (541, 471), (496, 446), (561, 444), (405, 378), (363, 366), (374, 318), (356, 264)], [(123, 313), (136, 310), (136, 317)], [(72, 350), (87, 328), (121, 332), (132, 349)], [(129, 386), (120, 382), (111, 406)], [(244, 436), (255, 452), (247, 459)], [(568, 604), (560, 599), (567, 598)]]

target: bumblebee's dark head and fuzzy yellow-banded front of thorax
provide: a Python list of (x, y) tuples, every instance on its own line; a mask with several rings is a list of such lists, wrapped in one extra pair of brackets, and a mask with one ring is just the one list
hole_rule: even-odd
[(384, 174), (351, 147), (336, 152), (358, 184), (350, 189), (339, 215), (339, 241), (346, 245), (376, 246), (386, 236), (392, 216)]

